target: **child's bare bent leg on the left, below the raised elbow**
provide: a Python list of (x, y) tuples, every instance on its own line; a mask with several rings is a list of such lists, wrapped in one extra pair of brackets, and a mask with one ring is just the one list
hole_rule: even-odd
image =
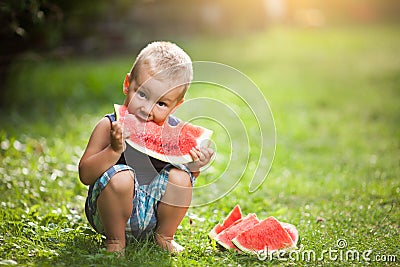
[(125, 248), (125, 225), (132, 213), (134, 174), (116, 173), (97, 199), (97, 209), (106, 235), (107, 251)]

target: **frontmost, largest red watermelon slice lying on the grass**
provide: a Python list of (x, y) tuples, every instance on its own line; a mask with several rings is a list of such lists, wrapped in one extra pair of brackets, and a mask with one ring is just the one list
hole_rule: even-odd
[(296, 245), (281, 223), (272, 216), (240, 233), (232, 242), (240, 250), (252, 253), (265, 250), (273, 252)]

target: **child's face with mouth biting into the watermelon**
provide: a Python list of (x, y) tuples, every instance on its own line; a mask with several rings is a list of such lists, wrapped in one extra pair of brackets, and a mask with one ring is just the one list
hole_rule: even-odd
[(137, 81), (130, 84), (125, 104), (129, 113), (161, 125), (183, 102), (182, 96), (183, 86), (171, 88), (168, 83), (152, 79), (143, 68)]

